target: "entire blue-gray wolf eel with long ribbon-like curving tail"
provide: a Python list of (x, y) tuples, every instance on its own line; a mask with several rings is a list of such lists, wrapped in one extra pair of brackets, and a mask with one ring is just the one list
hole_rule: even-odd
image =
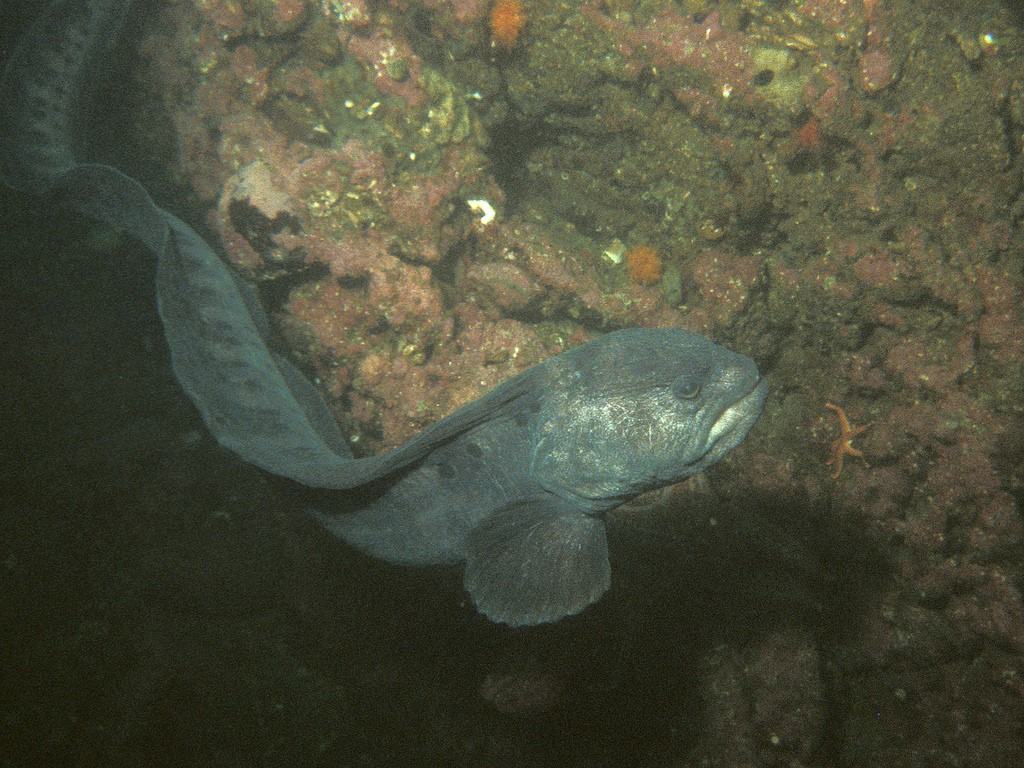
[(345, 489), (349, 510), (365, 500), (315, 511), (329, 530), (389, 562), (464, 561), (466, 590), (496, 622), (553, 622), (597, 600), (609, 583), (602, 514), (742, 441), (766, 393), (754, 362), (685, 331), (618, 331), (393, 451), (354, 458), (316, 389), (270, 349), (252, 291), (138, 181), (73, 152), (80, 94), (129, 4), (54, 0), (19, 41), (0, 78), (4, 183), (125, 229), (156, 255), (182, 389), (243, 460)]

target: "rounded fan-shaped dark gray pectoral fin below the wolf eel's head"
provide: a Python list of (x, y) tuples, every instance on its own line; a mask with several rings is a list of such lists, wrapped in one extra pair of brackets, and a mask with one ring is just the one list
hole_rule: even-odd
[(469, 534), (463, 583), (494, 622), (523, 627), (579, 613), (610, 581), (604, 521), (555, 497), (510, 504)]

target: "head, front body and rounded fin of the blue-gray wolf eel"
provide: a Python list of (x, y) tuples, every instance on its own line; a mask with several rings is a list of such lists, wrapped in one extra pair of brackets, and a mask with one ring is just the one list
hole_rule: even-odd
[[(493, 621), (553, 622), (608, 589), (603, 513), (722, 459), (766, 392), (753, 360), (697, 334), (610, 333), (496, 388), (484, 421), (359, 511), (317, 514), (389, 562), (465, 561), (466, 590)], [(474, 406), (463, 411), (475, 421)]]

